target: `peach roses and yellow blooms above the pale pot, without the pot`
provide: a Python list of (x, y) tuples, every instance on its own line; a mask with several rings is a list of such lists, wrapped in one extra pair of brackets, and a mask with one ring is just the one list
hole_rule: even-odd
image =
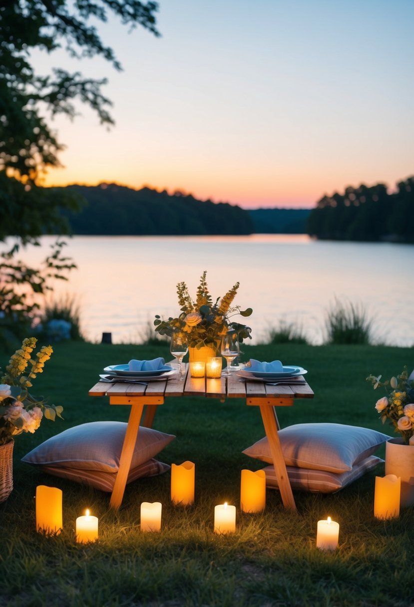
[[(392, 377), (390, 380), (381, 382), (381, 375), (368, 375), (367, 381), (372, 382), (374, 390), (378, 387), (384, 387), (387, 396), (382, 396), (376, 401), (375, 409), (380, 414), (382, 423), (387, 419), (395, 427), (395, 432), (399, 432), (405, 444), (412, 444), (410, 438), (414, 436), (414, 381), (410, 381), (407, 373), (407, 367), (400, 375)], [(389, 392), (389, 388), (392, 390)]]

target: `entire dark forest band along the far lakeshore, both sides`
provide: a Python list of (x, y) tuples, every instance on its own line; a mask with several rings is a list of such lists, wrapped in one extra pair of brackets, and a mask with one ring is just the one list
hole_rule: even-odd
[(81, 211), (62, 209), (73, 234), (208, 236), (309, 234), (320, 240), (414, 243), (414, 177), (392, 194), (377, 183), (324, 195), (313, 209), (242, 209), (192, 194), (115, 183), (53, 188), (84, 199)]

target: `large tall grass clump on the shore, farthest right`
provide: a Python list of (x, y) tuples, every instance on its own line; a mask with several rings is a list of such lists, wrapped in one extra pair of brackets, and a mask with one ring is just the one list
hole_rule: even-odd
[(373, 320), (362, 304), (338, 299), (327, 310), (327, 344), (372, 344)]

